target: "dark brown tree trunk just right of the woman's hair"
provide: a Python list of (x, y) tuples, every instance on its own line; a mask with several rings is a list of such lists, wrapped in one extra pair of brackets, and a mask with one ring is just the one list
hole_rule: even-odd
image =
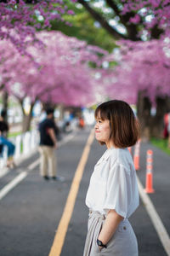
[(140, 123), (141, 138), (146, 141), (150, 139), (150, 110), (151, 102), (149, 97), (145, 96), (145, 91), (139, 91), (137, 102), (137, 115)]

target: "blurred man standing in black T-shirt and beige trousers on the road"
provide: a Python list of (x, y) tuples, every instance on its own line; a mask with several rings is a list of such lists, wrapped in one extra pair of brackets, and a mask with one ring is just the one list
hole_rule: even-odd
[(47, 118), (42, 120), (39, 124), (40, 174), (46, 180), (49, 179), (49, 175), (56, 180), (58, 179), (58, 177), (56, 177), (57, 161), (55, 152), (55, 149), (57, 148), (57, 137), (55, 134), (56, 125), (54, 123), (54, 108), (48, 108), (46, 113)]

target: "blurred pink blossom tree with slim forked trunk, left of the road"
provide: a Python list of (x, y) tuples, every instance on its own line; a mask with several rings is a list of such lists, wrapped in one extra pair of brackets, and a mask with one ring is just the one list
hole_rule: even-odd
[[(12, 44), (8, 44), (7, 48), (5, 41), (0, 42), (0, 72), (5, 90), (16, 96), (21, 106), (25, 97), (29, 96), (31, 109), (37, 99), (76, 106), (94, 103), (96, 80), (94, 68), (89, 64), (100, 67), (102, 55), (107, 52), (77, 38), (68, 38), (61, 32), (39, 32), (37, 38), (46, 45), (42, 49), (33, 46), (29, 49), (37, 67), (26, 55), (20, 56)], [(24, 124), (30, 124), (31, 113), (26, 119)]]

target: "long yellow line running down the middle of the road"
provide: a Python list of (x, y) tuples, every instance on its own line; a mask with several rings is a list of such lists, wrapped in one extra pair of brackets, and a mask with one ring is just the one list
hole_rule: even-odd
[(67, 201), (65, 203), (65, 209), (60, 219), (58, 229), (56, 230), (54, 242), (48, 256), (59, 256), (61, 253), (64, 241), (65, 241), (65, 235), (71, 220), (71, 215), (72, 215), (75, 201), (77, 198), (79, 185), (82, 180), (82, 174), (83, 174), (86, 162), (88, 160), (88, 154), (93, 141), (94, 141), (94, 129), (90, 132), (90, 135), (88, 137), (88, 142), (86, 143), (86, 146), (82, 153), (82, 158), (79, 161), (79, 164), (77, 166), (77, 171), (75, 172), (75, 176), (71, 183), (71, 189), (67, 197)]

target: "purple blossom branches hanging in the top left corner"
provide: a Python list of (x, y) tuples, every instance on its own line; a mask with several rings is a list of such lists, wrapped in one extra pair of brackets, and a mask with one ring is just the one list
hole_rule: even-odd
[[(0, 4), (0, 39), (8, 39), (21, 55), (29, 55), (26, 49), (30, 44), (42, 45), (37, 29), (50, 28), (50, 20), (65, 21), (64, 14), (74, 15), (62, 0), (29, 3), (31, 1), (7, 0)], [(67, 25), (70, 24), (67, 22)]]

